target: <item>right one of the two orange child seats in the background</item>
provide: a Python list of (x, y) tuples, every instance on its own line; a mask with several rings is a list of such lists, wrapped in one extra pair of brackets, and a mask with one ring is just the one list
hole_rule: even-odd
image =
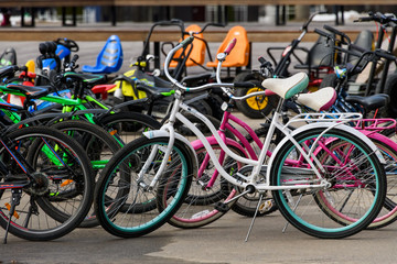
[[(240, 25), (236, 25), (227, 32), (227, 35), (222, 42), (217, 54), (223, 53), (233, 38), (237, 40), (236, 46), (232, 50), (226, 61), (222, 64), (222, 67), (247, 66), (249, 62), (249, 42), (247, 37), (247, 31)], [(217, 63), (218, 61), (215, 59), (215, 62), (208, 62), (206, 66), (214, 68), (217, 66)]]

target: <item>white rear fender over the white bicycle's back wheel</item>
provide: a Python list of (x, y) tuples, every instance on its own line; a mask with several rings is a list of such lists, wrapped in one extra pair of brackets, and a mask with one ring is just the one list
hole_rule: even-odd
[[(307, 124), (303, 127), (298, 128), (297, 130), (293, 130), (291, 135), (294, 136), (299, 133), (304, 132), (305, 130), (311, 130), (311, 129), (329, 129), (330, 128), (330, 123), (311, 123), (311, 124)], [(384, 158), (384, 156), (382, 155), (382, 153), (379, 152), (379, 150), (376, 147), (376, 145), (374, 144), (374, 142), (372, 142), (365, 134), (363, 134), (362, 132), (353, 129), (352, 127), (347, 127), (345, 124), (341, 124), (337, 123), (336, 127), (333, 128), (337, 128), (340, 130), (345, 131), (346, 133), (350, 134), (354, 134), (355, 136), (357, 136), (358, 139), (361, 139), (362, 141), (364, 141), (369, 147), (371, 150), (375, 153), (375, 155), (378, 157), (378, 160), (380, 161), (382, 164), (386, 164), (386, 161)], [(273, 153), (271, 154), (270, 161), (269, 161), (269, 167), (272, 166), (273, 160), (277, 156), (278, 152), (280, 151), (280, 148), (282, 147), (282, 145), (288, 141), (287, 138), (282, 139), (281, 142), (277, 145), (276, 150), (273, 151)]]

